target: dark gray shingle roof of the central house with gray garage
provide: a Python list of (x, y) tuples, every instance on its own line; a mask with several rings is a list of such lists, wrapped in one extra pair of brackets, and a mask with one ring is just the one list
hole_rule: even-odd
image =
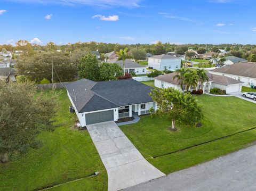
[(67, 86), (79, 113), (153, 102), (151, 87), (133, 79), (94, 82), (81, 79)]

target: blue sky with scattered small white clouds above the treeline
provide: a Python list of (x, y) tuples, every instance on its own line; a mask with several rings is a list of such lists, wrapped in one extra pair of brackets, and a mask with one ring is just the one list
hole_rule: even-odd
[(0, 44), (256, 44), (256, 0), (0, 0)]

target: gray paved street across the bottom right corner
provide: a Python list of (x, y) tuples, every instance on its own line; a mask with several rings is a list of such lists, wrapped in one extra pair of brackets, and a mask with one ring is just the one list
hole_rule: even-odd
[(256, 190), (255, 159), (256, 145), (253, 145), (210, 162), (124, 190), (254, 191)]

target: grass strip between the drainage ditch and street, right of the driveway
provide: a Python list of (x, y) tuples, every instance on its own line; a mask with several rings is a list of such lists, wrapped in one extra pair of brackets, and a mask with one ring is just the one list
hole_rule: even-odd
[(193, 147), (189, 150), (165, 155), (156, 159), (148, 158), (147, 160), (162, 172), (169, 174), (235, 152), (245, 148), (255, 142), (255, 140), (256, 130), (254, 129), (205, 145)]

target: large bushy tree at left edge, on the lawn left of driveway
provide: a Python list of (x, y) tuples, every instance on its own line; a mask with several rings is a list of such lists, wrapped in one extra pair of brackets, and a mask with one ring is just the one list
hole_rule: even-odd
[(39, 146), (37, 135), (54, 129), (58, 95), (36, 91), (30, 82), (6, 84), (0, 80), (0, 160), (6, 162), (12, 153)]

